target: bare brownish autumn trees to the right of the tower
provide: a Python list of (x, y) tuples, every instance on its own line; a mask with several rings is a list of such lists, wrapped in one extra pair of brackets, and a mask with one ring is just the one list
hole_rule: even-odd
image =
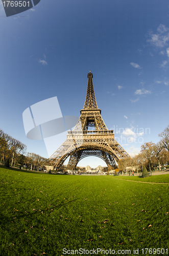
[(125, 170), (127, 166), (137, 166), (139, 170), (142, 170), (143, 165), (145, 165), (150, 171), (152, 169), (161, 170), (161, 166), (169, 163), (169, 125), (158, 136), (161, 138), (159, 142), (145, 142), (141, 145), (141, 151), (138, 155), (121, 159), (118, 162), (118, 168)]

